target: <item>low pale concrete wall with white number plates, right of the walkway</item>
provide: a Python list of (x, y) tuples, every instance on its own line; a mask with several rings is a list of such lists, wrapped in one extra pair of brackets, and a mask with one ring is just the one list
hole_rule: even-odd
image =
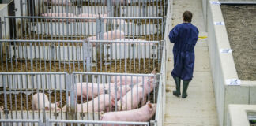
[[(219, 2), (216, 0), (216, 2)], [(220, 5), (204, 5), (207, 10), (207, 28), (209, 35), (209, 56), (213, 73), (213, 84), (220, 126), (226, 125), (229, 104), (255, 104), (256, 82), (241, 81), (241, 85), (227, 85), (228, 79), (239, 79), (232, 54), (220, 53), (220, 49), (230, 49), (228, 34)], [(217, 23), (217, 24), (216, 24)]]

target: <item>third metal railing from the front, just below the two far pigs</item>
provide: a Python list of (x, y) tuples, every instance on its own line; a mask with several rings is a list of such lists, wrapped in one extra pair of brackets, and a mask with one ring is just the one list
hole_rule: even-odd
[(164, 37), (163, 17), (73, 17), (69, 13), (50, 13), (47, 17), (4, 17), (2, 21), (4, 39), (95, 40), (100, 39), (101, 34), (116, 30), (127, 39), (161, 40)]

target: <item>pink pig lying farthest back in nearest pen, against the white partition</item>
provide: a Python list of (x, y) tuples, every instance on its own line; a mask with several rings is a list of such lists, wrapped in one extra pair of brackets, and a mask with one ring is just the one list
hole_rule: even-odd
[[(154, 69), (151, 74), (156, 74), (156, 69)], [(115, 82), (122, 82), (123, 85), (127, 83), (140, 83), (143, 80), (142, 76), (111, 76), (111, 83)], [(144, 76), (144, 80), (151, 80), (153, 77), (146, 77)]]

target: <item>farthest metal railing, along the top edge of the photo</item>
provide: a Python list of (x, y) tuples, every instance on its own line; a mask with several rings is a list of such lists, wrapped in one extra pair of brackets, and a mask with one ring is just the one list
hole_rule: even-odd
[[(36, 0), (19, 1), (21, 16), (43, 13), (104, 14), (108, 17), (161, 17), (166, 13), (166, 0)], [(18, 12), (19, 13), (19, 12)]]

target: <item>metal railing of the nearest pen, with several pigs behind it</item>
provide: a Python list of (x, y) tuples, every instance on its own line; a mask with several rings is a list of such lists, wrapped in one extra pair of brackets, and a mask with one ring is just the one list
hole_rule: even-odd
[(100, 120), (100, 114), (156, 103), (152, 74), (0, 72), (2, 119)]

